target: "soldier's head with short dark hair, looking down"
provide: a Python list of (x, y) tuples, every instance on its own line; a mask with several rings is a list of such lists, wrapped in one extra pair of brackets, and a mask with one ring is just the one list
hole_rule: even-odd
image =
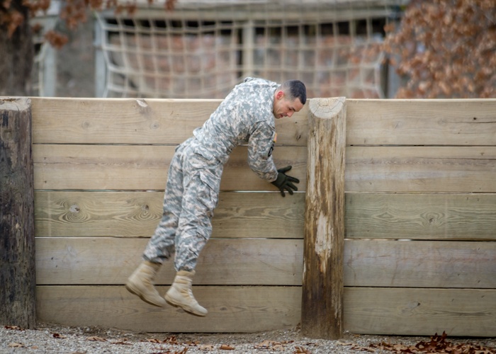
[(274, 117), (291, 117), (298, 112), (307, 101), (307, 89), (300, 80), (288, 80), (274, 93)]

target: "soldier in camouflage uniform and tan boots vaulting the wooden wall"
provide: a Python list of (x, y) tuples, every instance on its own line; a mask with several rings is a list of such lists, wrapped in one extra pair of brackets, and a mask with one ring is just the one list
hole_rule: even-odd
[[(284, 197), (298, 190), (291, 166), (276, 169), (272, 151), (276, 142), (274, 118), (291, 117), (306, 101), (303, 82), (278, 85), (247, 78), (227, 95), (215, 112), (193, 131), (193, 137), (176, 147), (169, 167), (164, 213), (143, 253), (143, 262), (130, 275), (126, 289), (143, 301), (163, 307), (166, 302), (197, 316), (208, 312), (193, 297), (191, 284), (200, 251), (212, 233), (211, 218), (217, 206), (222, 169), (232, 149), (248, 144), (248, 164), (261, 178), (276, 185)], [(154, 278), (175, 252), (176, 277), (161, 297)]]

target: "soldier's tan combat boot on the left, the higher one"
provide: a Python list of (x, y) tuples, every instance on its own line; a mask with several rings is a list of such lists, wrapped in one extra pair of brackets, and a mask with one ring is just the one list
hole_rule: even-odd
[(132, 294), (139, 296), (144, 302), (148, 302), (154, 306), (164, 307), (166, 302), (154, 287), (154, 279), (161, 265), (160, 263), (148, 261), (142, 262), (128, 278), (125, 288)]

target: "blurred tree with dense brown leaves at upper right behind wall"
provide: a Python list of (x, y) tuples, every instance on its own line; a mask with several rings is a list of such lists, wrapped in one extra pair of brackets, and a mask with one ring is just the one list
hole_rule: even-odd
[(496, 97), (495, 0), (413, 0), (386, 32), (397, 98)]

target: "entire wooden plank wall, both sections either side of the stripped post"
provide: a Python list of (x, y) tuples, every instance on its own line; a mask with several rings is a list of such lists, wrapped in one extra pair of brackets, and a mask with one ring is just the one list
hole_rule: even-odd
[[(38, 320), (166, 332), (299, 323), (308, 104), (276, 125), (274, 159), (293, 165), (298, 193), (281, 198), (257, 178), (245, 147), (227, 163), (193, 282), (208, 316), (123, 287), (161, 217), (174, 147), (219, 102), (33, 98)], [(495, 336), (496, 100), (346, 105), (345, 329)], [(160, 292), (173, 276), (164, 266)]]

